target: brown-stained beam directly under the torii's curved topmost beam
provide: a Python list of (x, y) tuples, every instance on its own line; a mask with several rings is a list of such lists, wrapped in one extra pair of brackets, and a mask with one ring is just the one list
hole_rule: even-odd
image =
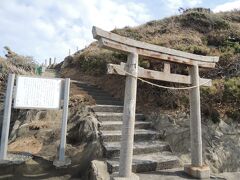
[(183, 57), (177, 57), (169, 54), (162, 54), (160, 52), (156, 51), (150, 51), (150, 50), (145, 50), (145, 49), (140, 49), (140, 48), (134, 48), (134, 47), (129, 47), (124, 44), (119, 44), (114, 41), (111, 41), (109, 39), (105, 38), (100, 38), (99, 39), (99, 45), (101, 47), (110, 49), (110, 50), (118, 50), (118, 51), (123, 51), (126, 53), (131, 53), (131, 52), (136, 52), (141, 56), (144, 57), (151, 57), (152, 59), (156, 60), (164, 60), (164, 61), (169, 61), (173, 63), (179, 63), (179, 64), (187, 64), (190, 66), (198, 65), (200, 67), (206, 67), (206, 68), (214, 68), (215, 63), (208, 63), (208, 62), (200, 62), (200, 61), (193, 61), (190, 59), (186, 59)]

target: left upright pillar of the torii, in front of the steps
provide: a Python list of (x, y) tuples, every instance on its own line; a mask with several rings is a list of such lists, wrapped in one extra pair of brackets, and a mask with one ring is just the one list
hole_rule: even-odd
[(130, 53), (126, 64), (126, 71), (131, 75), (126, 77), (122, 139), (120, 149), (119, 177), (115, 180), (138, 180), (139, 177), (132, 173), (135, 109), (137, 94), (138, 54)]

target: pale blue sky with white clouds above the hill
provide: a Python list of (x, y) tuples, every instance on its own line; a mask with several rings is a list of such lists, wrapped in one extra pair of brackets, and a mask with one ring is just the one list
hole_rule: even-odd
[(0, 56), (4, 46), (39, 63), (64, 57), (94, 41), (92, 26), (104, 30), (137, 26), (205, 7), (240, 9), (240, 0), (0, 0)]

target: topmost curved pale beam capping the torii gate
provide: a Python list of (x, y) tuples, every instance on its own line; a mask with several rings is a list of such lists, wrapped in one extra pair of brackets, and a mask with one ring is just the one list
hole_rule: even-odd
[(153, 45), (153, 44), (149, 44), (141, 41), (136, 41), (127, 37), (123, 37), (111, 32), (104, 31), (95, 26), (93, 26), (92, 33), (93, 33), (93, 37), (97, 40), (100, 40), (101, 38), (106, 38), (106, 39), (115, 41), (118, 44), (124, 44), (124, 45), (135, 47), (135, 48), (140, 48), (144, 50), (155, 51), (158, 53), (187, 58), (194, 61), (216, 63), (219, 60), (219, 57), (216, 57), (216, 56), (202, 56), (202, 55), (187, 53), (187, 52), (170, 49), (162, 46), (157, 46), (157, 45)]

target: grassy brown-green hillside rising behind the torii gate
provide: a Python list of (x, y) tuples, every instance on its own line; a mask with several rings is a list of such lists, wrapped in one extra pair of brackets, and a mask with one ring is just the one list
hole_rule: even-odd
[[(201, 70), (202, 77), (214, 79), (211, 88), (201, 89), (202, 112), (214, 122), (220, 116), (240, 122), (240, 11), (207, 13), (188, 11), (178, 16), (147, 22), (138, 27), (114, 29), (114, 33), (136, 40), (187, 51), (200, 55), (219, 56), (215, 69)], [(66, 76), (71, 71), (75, 77), (88, 76), (99, 86), (111, 91), (115, 96), (123, 97), (124, 79), (119, 76), (107, 76), (106, 64), (126, 61), (126, 55), (100, 49), (97, 43), (67, 57), (62, 66)], [(140, 66), (161, 70), (162, 63), (140, 58)], [(173, 65), (175, 73), (187, 74), (185, 66)], [(92, 78), (90, 78), (92, 77)], [(166, 82), (158, 82), (178, 86)], [(138, 107), (165, 110), (186, 110), (188, 108), (186, 91), (169, 91), (138, 84)]]

